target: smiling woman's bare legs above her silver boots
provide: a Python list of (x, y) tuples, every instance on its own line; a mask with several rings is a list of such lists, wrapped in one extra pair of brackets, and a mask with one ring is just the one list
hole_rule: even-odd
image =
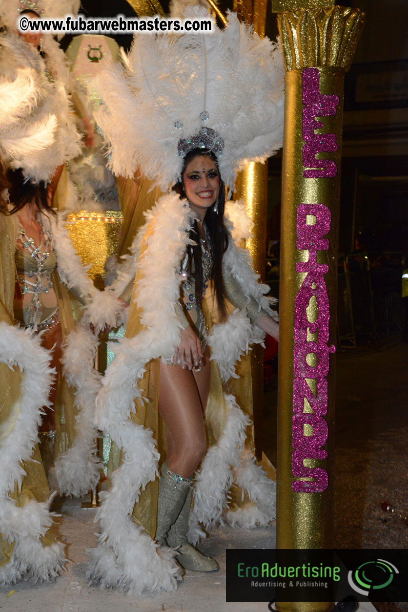
[(206, 453), (203, 405), (209, 388), (209, 353), (204, 356), (201, 371), (195, 374), (179, 365), (160, 362), (158, 410), (168, 431), (168, 466), (184, 478), (193, 474)]

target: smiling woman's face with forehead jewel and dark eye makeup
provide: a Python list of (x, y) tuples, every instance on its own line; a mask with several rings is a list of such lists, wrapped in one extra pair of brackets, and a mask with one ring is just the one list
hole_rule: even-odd
[(188, 162), (182, 179), (191, 208), (203, 219), (220, 194), (217, 164), (209, 155), (196, 155)]

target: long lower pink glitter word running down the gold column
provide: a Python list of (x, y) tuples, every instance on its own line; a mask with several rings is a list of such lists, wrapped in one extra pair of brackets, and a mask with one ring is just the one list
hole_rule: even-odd
[[(313, 215), (316, 222), (308, 224), (307, 215)], [(306, 273), (302, 286), (295, 297), (294, 326), (294, 387), (293, 387), (293, 430), (292, 430), (292, 473), (298, 478), (316, 480), (295, 480), (292, 489), (298, 493), (321, 493), (328, 487), (328, 474), (323, 468), (306, 468), (305, 459), (325, 459), (327, 452), (322, 449), (327, 442), (328, 427), (322, 415), (327, 414), (327, 380), (330, 367), (330, 353), (334, 346), (327, 346), (329, 337), (330, 303), (324, 275), (328, 266), (317, 263), (317, 251), (328, 249), (328, 239), (323, 236), (330, 230), (330, 211), (324, 204), (299, 204), (297, 209), (297, 241), (299, 250), (308, 250), (308, 261), (296, 264), (296, 271)], [(317, 318), (308, 320), (306, 308), (311, 297), (316, 298)], [(317, 333), (317, 338), (307, 340), (308, 330)], [(317, 360), (315, 366), (306, 362), (308, 354)], [(316, 380), (317, 396), (311, 392), (306, 378)], [(313, 413), (304, 412), (305, 399)], [(313, 434), (305, 436), (303, 425), (313, 427)]]

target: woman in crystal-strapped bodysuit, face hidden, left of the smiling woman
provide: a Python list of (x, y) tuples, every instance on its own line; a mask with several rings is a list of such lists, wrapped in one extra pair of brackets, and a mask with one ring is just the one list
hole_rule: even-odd
[[(122, 306), (94, 288), (70, 242), (64, 219), (48, 203), (52, 188), (46, 184), (55, 177), (56, 167), (81, 149), (64, 86), (48, 78), (37, 50), (19, 37), (0, 37), (0, 50), (1, 74), (17, 83), (20, 75), (20, 80), (28, 81), (32, 95), (23, 115), (18, 95), (10, 97), (15, 122), (3, 139), (16, 247), (15, 318), (26, 328), (43, 330), (45, 348), (54, 346), (57, 376), (51, 388), (51, 407), (45, 409), (40, 427), (41, 448), (47, 471), (54, 463), (52, 487), (61, 494), (80, 496), (100, 476), (93, 455), (96, 431), (92, 425), (100, 376), (94, 370), (97, 338), (88, 323), (97, 331), (105, 323), (113, 324)], [(7, 137), (14, 143), (8, 148)], [(26, 141), (29, 147), (24, 147)]]

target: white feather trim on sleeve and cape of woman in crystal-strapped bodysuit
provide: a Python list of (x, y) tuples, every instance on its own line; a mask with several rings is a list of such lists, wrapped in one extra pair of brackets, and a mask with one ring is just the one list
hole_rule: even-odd
[[(65, 228), (64, 218), (42, 215), (42, 223), (50, 231), (57, 255), (57, 270), (61, 280), (75, 288), (83, 301), (88, 302), (81, 324), (65, 339), (62, 357), (63, 374), (67, 383), (75, 388), (76, 436), (72, 447), (60, 455), (50, 473), (50, 485), (59, 493), (79, 497), (94, 488), (100, 478), (100, 463), (95, 458), (94, 425), (95, 399), (100, 389), (100, 375), (94, 368), (98, 341), (87, 328), (96, 330), (105, 324), (116, 324), (123, 310), (111, 293), (98, 291), (86, 274), (86, 266), (76, 255)], [(89, 313), (93, 309), (93, 313)]]

